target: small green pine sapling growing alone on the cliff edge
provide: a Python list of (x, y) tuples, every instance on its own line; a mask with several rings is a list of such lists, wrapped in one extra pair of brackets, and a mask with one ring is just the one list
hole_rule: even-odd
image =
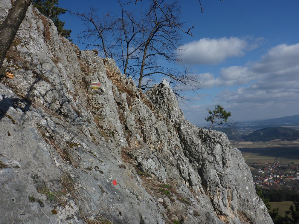
[(209, 116), (205, 118), (207, 122), (211, 122), (210, 131), (213, 127), (213, 124), (222, 125), (223, 122), (227, 122), (228, 117), (231, 116), (231, 112), (226, 112), (221, 105), (215, 105), (215, 109), (213, 111), (207, 109), (209, 112)]

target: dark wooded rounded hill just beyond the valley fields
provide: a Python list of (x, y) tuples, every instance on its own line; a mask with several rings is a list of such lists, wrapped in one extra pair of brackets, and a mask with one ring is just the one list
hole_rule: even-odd
[(295, 140), (299, 139), (299, 131), (292, 128), (270, 127), (244, 135), (243, 139), (250, 142), (266, 142), (275, 139)]

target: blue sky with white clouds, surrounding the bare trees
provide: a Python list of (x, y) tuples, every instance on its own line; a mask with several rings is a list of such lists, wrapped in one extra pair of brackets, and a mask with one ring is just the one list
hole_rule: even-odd
[[(146, 1), (130, 7), (138, 11)], [(186, 119), (205, 123), (206, 109), (215, 104), (238, 121), (299, 114), (298, 0), (202, 0), (204, 13), (198, 0), (178, 2), (186, 27), (195, 25), (193, 37), (182, 35), (186, 50), (181, 57), (202, 82), (196, 93), (184, 91), (191, 98), (180, 104)], [(60, 0), (59, 6), (80, 13), (93, 6), (99, 15), (119, 12), (116, 0)], [(69, 13), (60, 19), (77, 44), (76, 36), (84, 30), (80, 19)]]

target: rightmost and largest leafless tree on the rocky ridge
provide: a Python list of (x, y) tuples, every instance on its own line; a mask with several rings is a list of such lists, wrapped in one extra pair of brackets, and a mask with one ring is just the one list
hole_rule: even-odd
[(177, 70), (164, 67), (161, 59), (168, 62), (178, 62), (179, 47), (181, 46), (180, 7), (177, 1), (165, 4), (163, 0), (153, 0), (149, 11), (141, 17), (143, 44), (141, 45), (140, 73), (138, 88), (147, 89), (151, 85), (143, 83), (147, 77), (155, 81), (157, 75), (166, 76), (175, 86), (190, 85), (198, 88), (196, 76), (189, 73), (188, 68)]

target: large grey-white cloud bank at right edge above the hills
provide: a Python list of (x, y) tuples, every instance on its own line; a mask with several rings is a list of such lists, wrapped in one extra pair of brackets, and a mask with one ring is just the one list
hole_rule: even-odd
[[(245, 77), (254, 77), (248, 87), (235, 91), (225, 90), (216, 100), (235, 105), (234, 108), (247, 108), (244, 116), (268, 117), (299, 113), (299, 43), (278, 45), (271, 48), (261, 60), (247, 68)], [(220, 76), (224, 79), (224, 76)], [(250, 78), (249, 78), (250, 79)], [(281, 115), (280, 115), (281, 114)]]

